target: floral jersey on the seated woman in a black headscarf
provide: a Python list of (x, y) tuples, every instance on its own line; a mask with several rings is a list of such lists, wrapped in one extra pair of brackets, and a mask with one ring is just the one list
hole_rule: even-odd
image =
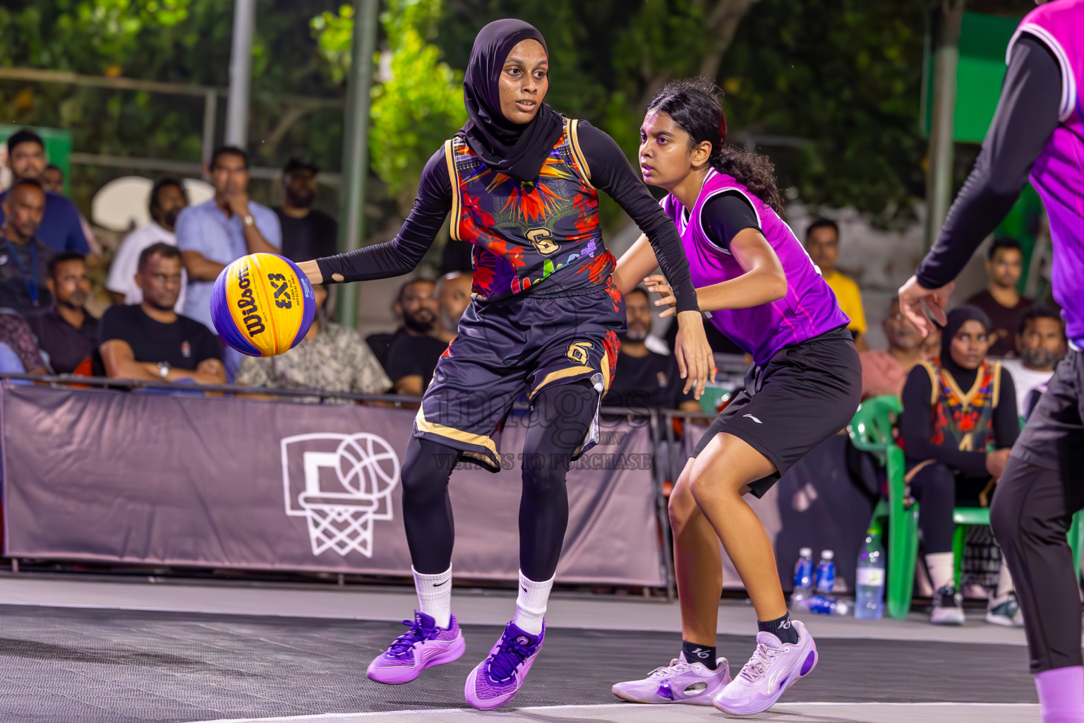
[(1001, 398), (1001, 362), (983, 361), (966, 393), (937, 361), (919, 362), (930, 374), (934, 444), (946, 441), (965, 452), (984, 452), (994, 439), (994, 408)]

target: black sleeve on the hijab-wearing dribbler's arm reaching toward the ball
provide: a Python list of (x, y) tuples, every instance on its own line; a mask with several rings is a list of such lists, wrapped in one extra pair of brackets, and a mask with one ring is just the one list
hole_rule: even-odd
[(336, 273), (343, 276), (344, 282), (410, 273), (429, 250), (451, 208), (452, 182), (448, 178), (448, 164), (441, 147), (425, 164), (414, 207), (396, 237), (385, 244), (317, 259), (324, 283), (340, 283), (332, 277)]

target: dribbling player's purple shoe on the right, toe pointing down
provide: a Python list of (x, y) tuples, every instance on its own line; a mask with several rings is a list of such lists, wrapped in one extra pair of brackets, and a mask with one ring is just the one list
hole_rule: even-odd
[(509, 622), (489, 657), (478, 663), (467, 675), (463, 695), (473, 708), (493, 710), (516, 697), (527, 680), (534, 658), (545, 640), (545, 623), (538, 635), (525, 633)]

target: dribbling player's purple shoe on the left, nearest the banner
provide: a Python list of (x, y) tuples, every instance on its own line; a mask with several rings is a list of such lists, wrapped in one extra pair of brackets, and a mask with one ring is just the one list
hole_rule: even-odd
[(459, 660), (463, 655), (466, 644), (454, 615), (448, 628), (438, 628), (425, 612), (414, 612), (414, 619), (403, 620), (403, 624), (410, 630), (369, 663), (365, 675), (370, 680), (388, 685), (410, 683), (426, 668)]

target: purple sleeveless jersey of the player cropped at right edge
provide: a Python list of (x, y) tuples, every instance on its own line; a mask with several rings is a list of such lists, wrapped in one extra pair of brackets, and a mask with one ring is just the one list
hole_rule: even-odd
[(1031, 182), (1050, 218), (1054, 298), (1062, 307), (1066, 334), (1084, 347), (1084, 0), (1057, 0), (1033, 10), (1021, 33), (1038, 38), (1061, 66), (1061, 121), (1031, 169)]

